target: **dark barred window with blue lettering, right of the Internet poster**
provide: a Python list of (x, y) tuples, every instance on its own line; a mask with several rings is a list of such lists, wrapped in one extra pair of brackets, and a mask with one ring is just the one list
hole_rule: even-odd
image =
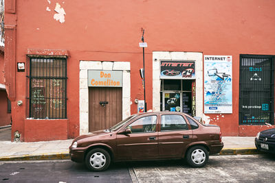
[(274, 125), (274, 56), (240, 56), (239, 124)]

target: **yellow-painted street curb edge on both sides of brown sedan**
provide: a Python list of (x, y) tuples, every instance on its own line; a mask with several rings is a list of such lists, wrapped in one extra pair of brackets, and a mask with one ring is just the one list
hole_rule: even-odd
[[(263, 154), (256, 148), (234, 148), (234, 149), (222, 149), (218, 156), (226, 155), (249, 155), (249, 154)], [(22, 160), (69, 160), (68, 153), (56, 153), (56, 154), (37, 154), (37, 155), (23, 155), (23, 156), (2, 156), (0, 161), (22, 161)]]

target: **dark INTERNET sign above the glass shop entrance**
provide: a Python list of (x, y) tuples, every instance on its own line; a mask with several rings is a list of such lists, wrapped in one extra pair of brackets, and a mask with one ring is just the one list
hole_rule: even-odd
[(195, 61), (160, 61), (160, 79), (195, 79)]

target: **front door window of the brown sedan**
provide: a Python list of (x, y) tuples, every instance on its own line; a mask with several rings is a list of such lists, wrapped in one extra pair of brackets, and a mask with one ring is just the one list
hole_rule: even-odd
[(155, 125), (157, 123), (157, 116), (148, 116), (137, 119), (131, 123), (128, 128), (132, 133), (148, 133), (155, 132)]

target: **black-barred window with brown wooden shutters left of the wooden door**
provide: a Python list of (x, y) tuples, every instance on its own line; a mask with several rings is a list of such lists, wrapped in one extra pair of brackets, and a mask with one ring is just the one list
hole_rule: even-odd
[(67, 58), (28, 56), (28, 114), (34, 119), (67, 118)]

